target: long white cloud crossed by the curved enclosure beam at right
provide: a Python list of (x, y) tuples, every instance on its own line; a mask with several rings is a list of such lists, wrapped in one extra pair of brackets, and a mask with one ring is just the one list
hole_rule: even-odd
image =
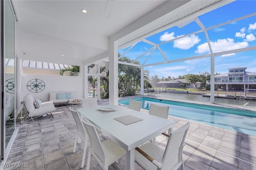
[[(244, 47), (248, 47), (248, 42), (234, 42), (234, 39), (228, 38), (228, 39), (218, 39), (217, 41), (211, 41), (210, 42), (213, 53), (217, 53), (220, 51), (228, 51), (233, 49), (240, 49)], [(208, 43), (203, 43), (201, 45), (197, 46), (197, 50), (195, 53), (209, 53), (210, 49), (208, 47)], [(233, 54), (230, 54), (233, 55)], [(227, 55), (226, 55), (227, 56)]]

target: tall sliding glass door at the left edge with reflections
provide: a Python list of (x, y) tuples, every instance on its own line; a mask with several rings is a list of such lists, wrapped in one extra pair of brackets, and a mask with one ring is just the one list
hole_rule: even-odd
[(9, 0), (1, 0), (1, 160), (15, 131), (14, 15)]

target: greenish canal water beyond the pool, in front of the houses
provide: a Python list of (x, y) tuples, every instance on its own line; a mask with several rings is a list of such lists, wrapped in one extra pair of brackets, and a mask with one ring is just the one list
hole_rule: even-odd
[[(166, 93), (165, 92), (165, 93), (150, 94), (149, 96), (159, 96), (162, 98), (190, 100), (190, 101), (210, 103), (210, 97), (202, 96), (200, 94), (181, 94), (181, 93), (168, 93), (168, 92)], [(218, 104), (256, 107), (255, 100), (244, 100), (244, 99), (239, 99), (239, 98), (236, 98), (236, 99), (214, 98), (214, 102), (218, 103)]]

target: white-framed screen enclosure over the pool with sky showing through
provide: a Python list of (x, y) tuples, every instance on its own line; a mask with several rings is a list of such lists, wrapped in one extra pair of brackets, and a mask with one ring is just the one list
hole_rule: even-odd
[[(246, 67), (252, 75), (256, 74), (256, 8), (251, 8), (256, 2), (226, 1), (218, 5), (219, 2), (214, 2), (215, 9), (210, 8), (208, 1), (201, 8), (184, 8), (143, 33), (119, 41), (118, 63), (137, 66), (142, 71), (141, 94), (145, 75), (214, 75), (232, 67)], [(256, 84), (255, 80), (256, 76), (248, 84)], [(214, 76), (208, 81), (214, 103)]]

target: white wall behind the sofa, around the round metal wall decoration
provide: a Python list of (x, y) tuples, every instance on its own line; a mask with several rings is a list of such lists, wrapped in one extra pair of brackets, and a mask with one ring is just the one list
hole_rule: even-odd
[[(38, 93), (32, 93), (27, 88), (27, 83), (34, 79), (40, 79), (44, 82), (45, 88)], [(20, 86), (20, 98), (31, 93), (34, 99), (42, 99), (43, 102), (49, 101), (49, 92), (60, 91), (78, 91), (79, 96), (84, 98), (84, 78), (83, 76), (50, 76), (50, 75), (32, 75), (22, 74)]]

